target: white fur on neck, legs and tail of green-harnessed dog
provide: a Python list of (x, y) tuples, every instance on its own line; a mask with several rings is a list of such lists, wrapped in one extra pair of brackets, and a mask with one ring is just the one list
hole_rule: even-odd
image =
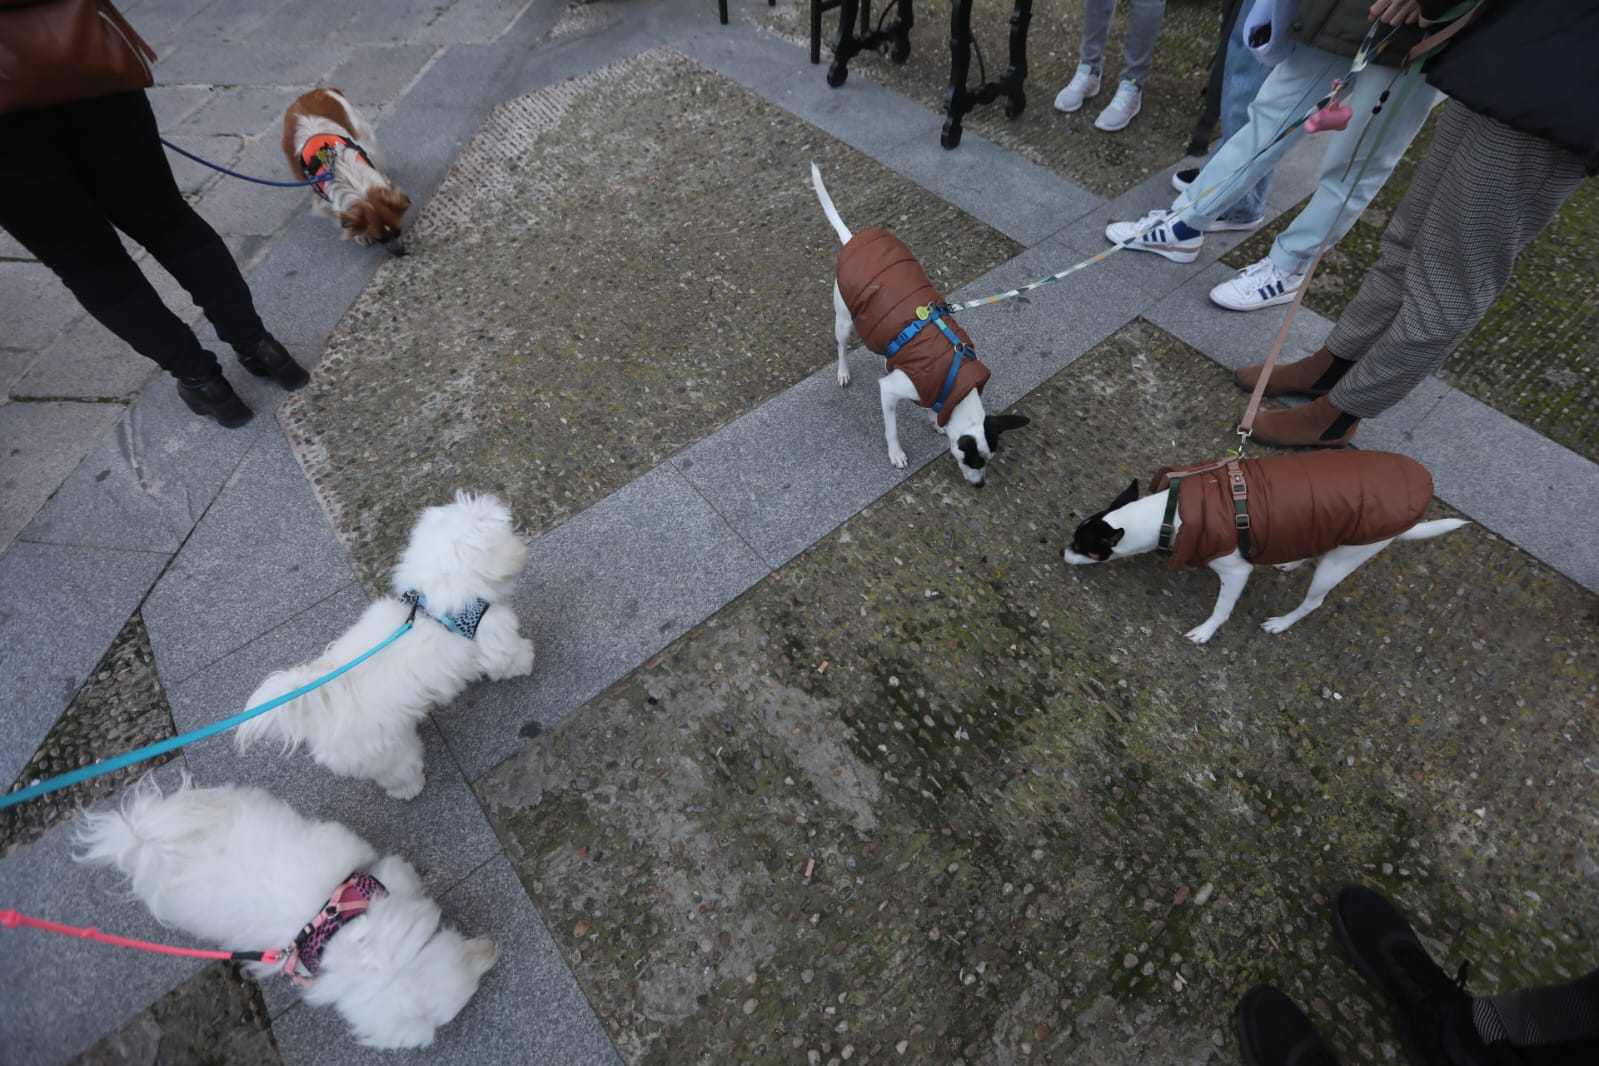
[[(1129, 555), (1142, 555), (1154, 550), (1159, 545), (1161, 521), (1164, 516), (1166, 492), (1153, 492), (1105, 515), (1105, 521), (1110, 523), (1110, 526), (1124, 531), (1121, 540), (1111, 548), (1111, 558), (1119, 559)], [(1453, 532), (1461, 526), (1469, 524), (1471, 523), (1463, 518), (1441, 518), (1438, 521), (1417, 523), (1398, 537), (1390, 537), (1388, 540), (1337, 547), (1316, 559), (1316, 572), (1310, 579), (1310, 588), (1305, 591), (1305, 599), (1300, 601), (1300, 606), (1287, 614), (1266, 619), (1260, 623), (1260, 628), (1266, 633), (1284, 631), (1319, 607), (1327, 598), (1327, 593), (1330, 593), (1338, 582), (1353, 574), (1362, 563), (1391, 545), (1394, 540), (1426, 540), (1428, 537), (1441, 537), (1442, 534)], [(1172, 535), (1175, 537), (1177, 531), (1182, 527), (1182, 516), (1172, 515)], [(1099, 563), (1099, 559), (1078, 555), (1071, 548), (1067, 548), (1060, 555), (1073, 566), (1091, 566)], [(1303, 561), (1305, 559), (1282, 563), (1278, 569), (1292, 571)], [(1215, 607), (1210, 611), (1210, 617), (1185, 633), (1185, 636), (1194, 644), (1204, 644), (1215, 636), (1215, 631), (1220, 630), (1222, 623), (1233, 614), (1238, 598), (1244, 595), (1244, 585), (1249, 583), (1249, 572), (1255, 569), (1254, 564), (1247, 563), (1236, 550), (1231, 555), (1212, 559), (1209, 567), (1215, 571), (1215, 575), (1222, 580), (1222, 588), (1217, 591)]]

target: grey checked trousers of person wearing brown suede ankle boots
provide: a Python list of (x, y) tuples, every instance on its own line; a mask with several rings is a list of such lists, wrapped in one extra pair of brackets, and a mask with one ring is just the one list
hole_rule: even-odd
[[(1586, 176), (1577, 153), (1460, 104), (1450, 104), (1444, 120), (1458, 147), (1438, 168), (1436, 185), (1422, 190), (1425, 214), (1409, 213), (1414, 246), (1398, 278), (1398, 313), (1364, 353), (1340, 347), (1350, 336), (1342, 318), (1327, 340), (1335, 353), (1358, 360), (1329, 398), (1361, 419), (1399, 403), (1465, 340), (1505, 291), (1521, 249)], [(1409, 201), (1410, 195), (1396, 222)], [(1383, 283), (1391, 284), (1394, 273), (1390, 268)], [(1364, 294), (1366, 284), (1354, 304)]]

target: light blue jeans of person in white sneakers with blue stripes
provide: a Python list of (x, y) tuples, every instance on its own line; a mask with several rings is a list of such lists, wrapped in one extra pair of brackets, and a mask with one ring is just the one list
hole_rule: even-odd
[[(1266, 75), (1255, 101), (1249, 105), (1249, 123), (1215, 150), (1190, 190), (1172, 203), (1172, 209), (1180, 211), (1178, 219), (1196, 230), (1210, 229), (1210, 222), (1222, 217), (1263, 176), (1271, 173), (1295, 141), (1295, 137), (1286, 137), (1271, 144), (1271, 139), (1284, 128), (1303, 120), (1305, 112), (1332, 88), (1332, 80), (1348, 74), (1348, 70), (1350, 61), (1345, 56), (1334, 56), (1310, 45), (1295, 45), (1289, 58)], [(1398, 70), (1378, 66), (1367, 67), (1343, 96), (1343, 102), (1354, 109), (1348, 128), (1313, 134), (1324, 139), (1327, 145), (1321, 158), (1321, 181), (1305, 209), (1271, 246), (1271, 261), (1278, 270), (1303, 273), (1316, 256), (1316, 249), (1321, 248), (1322, 238), (1332, 233), (1329, 245), (1334, 245), (1350, 232), (1361, 211), (1388, 181), (1399, 157), (1410, 147), (1410, 141), (1422, 129), (1428, 112), (1442, 99), (1442, 94), (1431, 85), (1417, 82), (1410, 96), (1393, 113), (1393, 125), (1386, 136), (1377, 144), (1377, 133), (1394, 109), (1394, 101), (1390, 101), (1383, 112), (1375, 117), (1372, 107), (1388, 88), (1398, 94)], [(1367, 128), (1367, 123), (1372, 128), (1366, 134), (1366, 141), (1361, 142), (1361, 131)], [(1356, 145), (1361, 145), (1361, 158), (1354, 160), (1351, 166)], [(1366, 166), (1359, 184), (1354, 184), (1361, 163), (1374, 150), (1370, 165)], [(1210, 190), (1212, 185), (1215, 185), (1214, 190)], [(1210, 190), (1209, 195), (1201, 195), (1206, 190)], [(1199, 197), (1198, 203), (1188, 205), (1190, 195)], [(1343, 201), (1346, 195), (1348, 205)]]

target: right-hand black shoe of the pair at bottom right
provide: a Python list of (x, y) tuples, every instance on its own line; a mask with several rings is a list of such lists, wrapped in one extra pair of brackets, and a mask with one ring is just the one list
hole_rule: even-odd
[(1361, 885), (1338, 893), (1332, 925), (1354, 969), (1393, 1005), (1412, 1066), (1492, 1066), (1495, 1058), (1471, 1021), (1466, 964), (1450, 980), (1404, 914)]

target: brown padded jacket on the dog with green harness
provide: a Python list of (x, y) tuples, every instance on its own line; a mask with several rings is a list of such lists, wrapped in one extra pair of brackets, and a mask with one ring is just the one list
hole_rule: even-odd
[[(1313, 559), (1340, 545), (1398, 537), (1433, 500), (1433, 475), (1394, 452), (1318, 451), (1239, 465), (1249, 494), (1249, 561), (1255, 564)], [(1182, 467), (1162, 467), (1150, 491), (1166, 489), (1170, 476), (1182, 478), (1182, 526), (1170, 569), (1204, 566), (1236, 550), (1226, 468), (1183, 476)]]

